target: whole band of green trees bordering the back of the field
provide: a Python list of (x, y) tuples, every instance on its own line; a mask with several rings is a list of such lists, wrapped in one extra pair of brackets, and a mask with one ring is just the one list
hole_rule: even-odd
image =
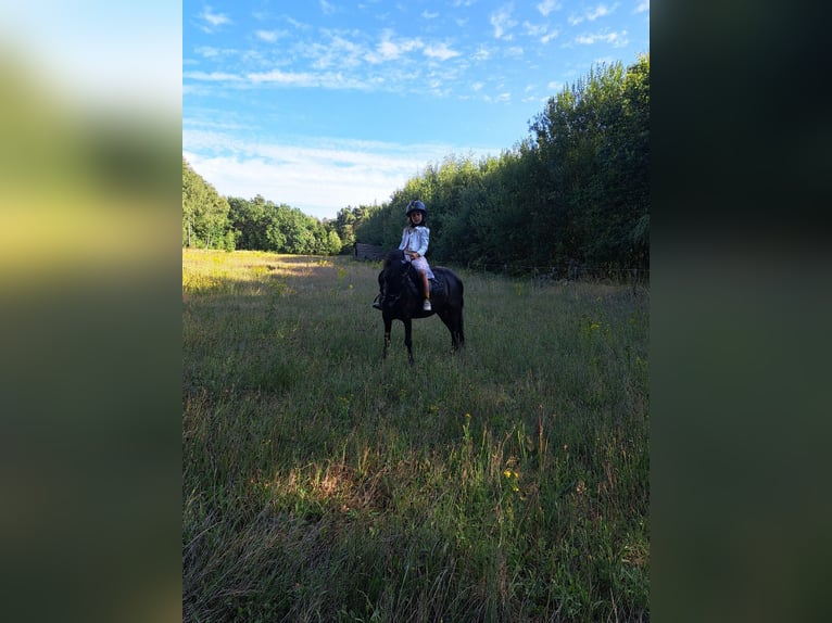
[[(187, 204), (186, 171), (196, 189)], [(650, 55), (626, 68), (620, 62), (593, 67), (550, 98), (530, 120), (529, 136), (499, 156), (475, 162), (449, 155), (389, 202), (342, 208), (335, 220), (320, 223), (261, 196), (223, 200), (200, 180), (184, 161), (184, 245), (196, 240), (214, 247), (336, 254), (351, 253), (358, 241), (392, 249), (407, 203), (419, 199), (428, 207), (434, 263), (521, 271), (566, 263), (644, 269)]]

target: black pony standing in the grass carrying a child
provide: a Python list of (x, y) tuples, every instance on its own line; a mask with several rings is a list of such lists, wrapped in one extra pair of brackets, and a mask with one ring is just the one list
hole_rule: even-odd
[[(393, 320), (404, 323), (404, 345), (407, 360), (413, 364), (412, 320), (437, 314), (451, 331), (451, 344), (458, 351), (465, 343), (463, 331), (463, 282), (450, 268), (432, 267), (434, 279), (430, 280), (430, 304), (432, 309), (421, 308), (424, 290), (418, 271), (404, 259), (401, 250), (391, 251), (385, 259), (378, 276), (379, 303), (385, 319), (385, 351), (390, 345), (390, 329)], [(418, 284), (418, 285), (417, 285)]]

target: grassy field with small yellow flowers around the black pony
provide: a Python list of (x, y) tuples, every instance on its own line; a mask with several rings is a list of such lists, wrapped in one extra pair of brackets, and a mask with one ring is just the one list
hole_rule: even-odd
[(648, 620), (647, 291), (379, 268), (182, 252), (185, 621)]

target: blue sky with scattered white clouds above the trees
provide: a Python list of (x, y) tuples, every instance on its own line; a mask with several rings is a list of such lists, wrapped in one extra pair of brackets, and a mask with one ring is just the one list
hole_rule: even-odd
[(220, 194), (335, 218), (447, 156), (499, 156), (650, 0), (186, 0), (182, 155)]

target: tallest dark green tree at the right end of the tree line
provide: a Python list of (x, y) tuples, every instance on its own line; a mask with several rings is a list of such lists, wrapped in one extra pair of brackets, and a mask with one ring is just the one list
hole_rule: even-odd
[(540, 223), (564, 257), (644, 264), (650, 224), (650, 58), (593, 68), (530, 126)]

